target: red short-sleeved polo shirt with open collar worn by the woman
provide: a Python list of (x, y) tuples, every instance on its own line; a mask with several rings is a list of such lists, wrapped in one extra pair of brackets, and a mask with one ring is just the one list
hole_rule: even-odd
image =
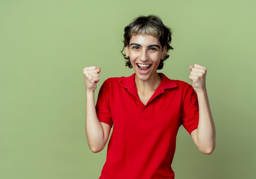
[(96, 104), (101, 122), (113, 125), (100, 179), (174, 179), (171, 168), (180, 125), (198, 126), (197, 95), (190, 84), (162, 81), (148, 103), (138, 96), (135, 73), (101, 86)]

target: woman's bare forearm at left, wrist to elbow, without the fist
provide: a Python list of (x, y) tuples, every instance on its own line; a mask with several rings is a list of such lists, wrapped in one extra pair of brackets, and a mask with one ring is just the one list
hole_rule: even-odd
[(92, 152), (101, 151), (105, 146), (104, 132), (95, 109), (94, 91), (86, 92), (85, 132)]

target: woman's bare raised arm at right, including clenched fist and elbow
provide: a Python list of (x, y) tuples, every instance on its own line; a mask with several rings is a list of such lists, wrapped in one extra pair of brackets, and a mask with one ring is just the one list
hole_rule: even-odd
[(189, 79), (193, 82), (192, 86), (197, 93), (199, 105), (198, 128), (191, 132), (191, 136), (202, 153), (211, 154), (216, 144), (216, 131), (205, 85), (207, 69), (195, 64), (190, 66), (190, 70)]

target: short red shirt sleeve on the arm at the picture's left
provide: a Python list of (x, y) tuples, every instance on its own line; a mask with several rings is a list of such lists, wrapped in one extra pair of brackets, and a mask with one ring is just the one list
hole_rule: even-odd
[(110, 110), (110, 85), (108, 80), (103, 82), (96, 103), (96, 113), (99, 121), (109, 124), (111, 127), (113, 125), (111, 110)]

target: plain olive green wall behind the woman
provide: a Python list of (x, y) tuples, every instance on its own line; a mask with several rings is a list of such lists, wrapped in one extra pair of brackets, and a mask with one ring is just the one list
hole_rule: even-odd
[(206, 66), (216, 149), (204, 155), (180, 127), (175, 179), (256, 178), (256, 1), (0, 0), (0, 178), (98, 179), (106, 148), (85, 136), (83, 68), (108, 77), (124, 65), (124, 27), (157, 14), (173, 29), (164, 64), (190, 83), (189, 66)]

